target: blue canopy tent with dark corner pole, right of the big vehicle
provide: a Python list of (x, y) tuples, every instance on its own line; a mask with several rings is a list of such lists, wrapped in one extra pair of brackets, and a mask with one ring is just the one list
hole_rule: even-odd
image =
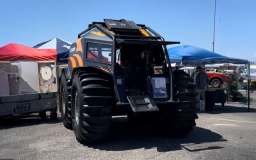
[(234, 63), (244, 64), (248, 70), (248, 111), (250, 111), (250, 62), (237, 58), (230, 58), (215, 52), (201, 49), (191, 45), (180, 45), (168, 49), (171, 63), (180, 63), (185, 66), (198, 66), (207, 64)]

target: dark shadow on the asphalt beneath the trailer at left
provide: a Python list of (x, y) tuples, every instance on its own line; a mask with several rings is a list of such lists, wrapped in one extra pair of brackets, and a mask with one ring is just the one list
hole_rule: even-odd
[(24, 127), (31, 125), (39, 125), (39, 124), (56, 124), (60, 123), (61, 118), (57, 118), (56, 120), (51, 120), (49, 116), (42, 119), (39, 118), (36, 114), (31, 115), (13, 115), (4, 118), (0, 118), (0, 130), (1, 129), (10, 129), (13, 127)]

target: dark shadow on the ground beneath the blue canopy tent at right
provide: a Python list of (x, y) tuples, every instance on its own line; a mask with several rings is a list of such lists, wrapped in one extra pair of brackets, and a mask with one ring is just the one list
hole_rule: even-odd
[[(250, 108), (251, 113), (255, 113), (255, 108)], [(221, 105), (216, 105), (212, 108), (211, 111), (205, 111), (209, 114), (220, 114), (220, 113), (248, 113), (248, 108), (245, 105), (241, 106), (232, 106), (232, 104), (225, 104), (224, 107)]]

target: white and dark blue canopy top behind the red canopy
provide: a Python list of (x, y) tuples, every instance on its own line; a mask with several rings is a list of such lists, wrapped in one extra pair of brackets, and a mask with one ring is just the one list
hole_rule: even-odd
[(55, 54), (57, 54), (57, 62), (67, 63), (70, 45), (70, 42), (61, 40), (60, 38), (53, 38), (46, 42), (35, 45), (34, 48), (51, 49), (52, 52), (55, 52)]

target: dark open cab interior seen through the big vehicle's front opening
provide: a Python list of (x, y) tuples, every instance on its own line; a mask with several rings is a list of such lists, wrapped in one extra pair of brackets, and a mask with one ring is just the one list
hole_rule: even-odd
[(152, 77), (168, 77), (161, 45), (120, 45), (116, 76), (124, 77), (127, 95), (148, 95)]

